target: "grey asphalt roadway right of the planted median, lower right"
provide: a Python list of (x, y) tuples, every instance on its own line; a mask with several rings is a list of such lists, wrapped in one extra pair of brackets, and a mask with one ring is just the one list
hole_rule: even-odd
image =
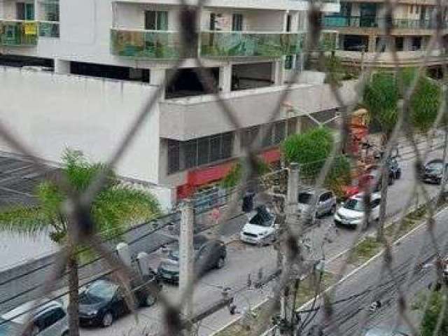
[[(442, 255), (448, 252), (447, 221), (448, 209), (444, 209), (435, 221), (437, 250)], [(390, 270), (384, 267), (383, 258), (376, 258), (367, 267), (339, 283), (331, 300), (331, 318), (325, 318), (322, 309), (319, 309), (314, 318), (309, 318), (302, 335), (309, 335), (307, 332), (312, 325), (323, 327), (323, 335), (360, 335), (359, 332), (365, 332), (365, 328), (372, 326), (393, 328), (394, 325), (402, 325), (406, 328), (406, 323), (398, 316), (399, 290), (407, 298), (408, 307), (411, 307), (416, 293), (426, 292), (430, 283), (436, 279), (433, 270), (414, 272), (415, 265), (432, 261), (434, 255), (430, 236), (424, 227), (420, 227), (395, 245)], [(382, 303), (381, 307), (370, 311), (370, 304), (377, 300)], [(321, 303), (319, 301), (317, 306)], [(418, 326), (420, 314), (412, 310), (408, 314), (412, 323)], [(304, 321), (312, 314), (304, 313), (301, 316)]]

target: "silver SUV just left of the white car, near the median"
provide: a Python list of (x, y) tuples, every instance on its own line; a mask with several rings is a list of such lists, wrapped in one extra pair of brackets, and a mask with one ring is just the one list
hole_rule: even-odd
[[(317, 195), (316, 195), (317, 194)], [(300, 214), (306, 214), (309, 211), (311, 202), (315, 200), (316, 211), (314, 217), (321, 217), (329, 214), (335, 214), (336, 211), (336, 196), (330, 190), (316, 190), (309, 188), (300, 191), (298, 201), (298, 211)]]

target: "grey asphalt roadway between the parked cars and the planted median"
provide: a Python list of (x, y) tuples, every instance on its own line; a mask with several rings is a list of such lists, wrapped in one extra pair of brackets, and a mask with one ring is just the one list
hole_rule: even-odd
[[(431, 153), (430, 157), (432, 158), (440, 155), (440, 151), (435, 151)], [(414, 160), (412, 160), (412, 155), (404, 156), (402, 158), (402, 178), (398, 181), (395, 181), (393, 186), (389, 188), (387, 211), (388, 216), (398, 214), (405, 206), (407, 197), (411, 193), (410, 188), (412, 186), (412, 182), (414, 181), (413, 162)], [(436, 186), (428, 186), (428, 192), (430, 194), (434, 194), (436, 190)], [(325, 235), (325, 232), (331, 221), (332, 218), (323, 218), (321, 220), (321, 225), (309, 232), (309, 237), (311, 237), (311, 241), (313, 241), (314, 246), (320, 245), (320, 242), (322, 241), (323, 236)], [(240, 217), (236, 218), (230, 223), (226, 223), (225, 230), (223, 232), (223, 235), (225, 236), (224, 239), (229, 240), (232, 236), (235, 236), (235, 234), (239, 232), (239, 229), (242, 227), (242, 225), (244, 225), (244, 222), (244, 217)], [(370, 228), (370, 231), (372, 230), (375, 229)], [(335, 233), (334, 237), (332, 237), (332, 242), (325, 244), (325, 254), (327, 255), (327, 258), (331, 258), (332, 255), (340, 253), (347, 247), (351, 246), (355, 235), (356, 233), (352, 230), (339, 229), (339, 232), (337, 234)], [(442, 235), (440, 237), (442, 237)], [(409, 246), (411, 248), (414, 248), (413, 244), (410, 244)], [(317, 251), (317, 247), (314, 248), (314, 250), (316, 251), (311, 251), (311, 255), (320, 258), (320, 250)], [(400, 255), (404, 255), (404, 257), (407, 258), (409, 257), (409, 251), (407, 251), (407, 249), (405, 249), (403, 252), (401, 252), (401, 250), (399, 251)], [(423, 253), (426, 252), (423, 251)], [(164, 258), (164, 256), (160, 252), (153, 254), (154, 266), (158, 265), (158, 261), (160, 260), (160, 258)], [(400, 260), (400, 258), (398, 260)], [(400, 262), (405, 261), (402, 260)], [(207, 276), (205, 276), (196, 286), (196, 290), (194, 293), (195, 311), (200, 311), (204, 307), (208, 307), (209, 304), (220, 300), (221, 291), (223, 288), (231, 288), (232, 290), (239, 290), (240, 288), (244, 288), (247, 283), (248, 274), (251, 274), (252, 279), (255, 279), (260, 269), (263, 269), (264, 274), (267, 274), (275, 267), (276, 252), (272, 247), (267, 246), (260, 248), (256, 246), (248, 246), (239, 242), (230, 244), (228, 247), (228, 264), (225, 265), (224, 269), (207, 274)], [(352, 279), (355, 278), (347, 280), (347, 283), (349, 283), (349, 285), (342, 286), (340, 290), (337, 291), (337, 297), (347, 297), (351, 295), (351, 293), (358, 293), (359, 291), (363, 290), (365, 286), (368, 286), (369, 283), (374, 283), (372, 282), (372, 279), (378, 278), (378, 269), (370, 271), (369, 267), (365, 272), (368, 273), (367, 275), (365, 275), (365, 278), (363, 278), (362, 281), (357, 280), (352, 283)], [(368, 281), (365, 279), (368, 279)], [(386, 281), (385, 279), (387, 279), (386, 275), (384, 275), (384, 281)], [(384, 288), (388, 287), (384, 286)], [(179, 292), (176, 287), (167, 285), (165, 286), (164, 291), (165, 293), (167, 293), (168, 297), (176, 302), (177, 298), (179, 297)], [(390, 288), (388, 288), (388, 291), (390, 291)], [(240, 307), (240, 309), (253, 307), (254, 304), (261, 302), (267, 295), (269, 295), (269, 292), (269, 288), (263, 288), (263, 290), (241, 290), (236, 297), (237, 306)], [(359, 305), (361, 305), (361, 303), (363, 302), (360, 302)], [(342, 307), (342, 305), (339, 307)], [(338, 320), (346, 320), (347, 325), (349, 325), (350, 321), (352, 321), (353, 318), (356, 318), (356, 316), (359, 316), (360, 314), (361, 310), (358, 309), (358, 311), (355, 309), (355, 307), (355, 304), (346, 304), (346, 307), (344, 309), (341, 309), (341, 312), (339, 313), (341, 314), (341, 316), (340, 318), (338, 318)], [(230, 316), (227, 309), (221, 309), (216, 314), (202, 321), (202, 325), (200, 327), (200, 335), (209, 335), (211, 334), (211, 332), (223, 327), (223, 325), (229, 323), (234, 318), (235, 316)], [(151, 330), (151, 332), (157, 332), (161, 328), (161, 321), (162, 308), (159, 305), (155, 305), (155, 307), (139, 310), (138, 324), (136, 324), (133, 316), (125, 316), (124, 318), (120, 318), (120, 320), (116, 321), (110, 328), (83, 329), (81, 330), (81, 335), (137, 336), (141, 335), (141, 330)], [(350, 334), (342, 333), (339, 335)]]

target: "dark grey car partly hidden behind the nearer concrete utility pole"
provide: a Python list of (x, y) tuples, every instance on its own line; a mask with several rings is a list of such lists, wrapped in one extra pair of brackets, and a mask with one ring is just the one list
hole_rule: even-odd
[[(195, 250), (195, 272), (197, 276), (203, 276), (211, 269), (223, 268), (226, 259), (227, 248), (223, 241), (207, 239)], [(179, 249), (171, 251), (168, 259), (160, 262), (158, 276), (164, 281), (179, 283)]]

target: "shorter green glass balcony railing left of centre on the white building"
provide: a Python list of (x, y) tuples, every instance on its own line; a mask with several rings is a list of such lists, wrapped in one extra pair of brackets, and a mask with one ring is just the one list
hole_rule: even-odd
[[(149, 59), (180, 57), (181, 36), (176, 31), (111, 29), (113, 55)], [(191, 55), (193, 57), (193, 55)]]

